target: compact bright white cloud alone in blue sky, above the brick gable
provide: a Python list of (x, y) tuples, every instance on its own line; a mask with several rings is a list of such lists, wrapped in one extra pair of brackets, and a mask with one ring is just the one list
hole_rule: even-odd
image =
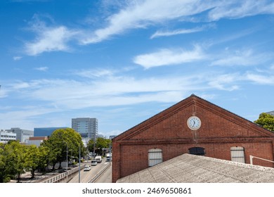
[(144, 68), (152, 68), (163, 65), (176, 65), (200, 61), (206, 58), (200, 46), (195, 46), (192, 51), (183, 49), (160, 49), (155, 53), (143, 54), (133, 58), (133, 62)]

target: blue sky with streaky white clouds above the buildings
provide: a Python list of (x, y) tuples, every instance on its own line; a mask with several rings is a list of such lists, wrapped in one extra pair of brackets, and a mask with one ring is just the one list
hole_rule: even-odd
[(0, 1), (0, 129), (98, 118), (109, 136), (196, 94), (274, 110), (274, 2)]

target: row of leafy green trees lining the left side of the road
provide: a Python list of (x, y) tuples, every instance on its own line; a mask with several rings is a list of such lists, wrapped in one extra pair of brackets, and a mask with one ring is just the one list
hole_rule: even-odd
[[(109, 139), (98, 138), (95, 142), (96, 153), (102, 155), (103, 148), (109, 148), (110, 142)], [(84, 147), (81, 135), (70, 128), (57, 129), (39, 147), (27, 146), (18, 141), (0, 144), (0, 183), (9, 182), (10, 179), (18, 179), (20, 182), (20, 176), (25, 172), (31, 172), (31, 178), (34, 178), (37, 170), (44, 173), (59, 170), (61, 163), (66, 160), (78, 161), (79, 151), (80, 157), (93, 152), (93, 144), (91, 140)]]

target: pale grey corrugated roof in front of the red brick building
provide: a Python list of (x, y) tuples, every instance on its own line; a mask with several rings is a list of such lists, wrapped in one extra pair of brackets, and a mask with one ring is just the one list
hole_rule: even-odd
[(185, 153), (117, 182), (274, 183), (274, 169)]

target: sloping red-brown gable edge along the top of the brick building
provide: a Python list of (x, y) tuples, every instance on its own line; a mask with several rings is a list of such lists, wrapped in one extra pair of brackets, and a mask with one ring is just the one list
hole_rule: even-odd
[(131, 129), (126, 130), (122, 134), (117, 135), (114, 139), (112, 139), (112, 141), (130, 139), (132, 136), (135, 136), (145, 131), (149, 127), (156, 125), (158, 122), (161, 122), (167, 117), (174, 115), (174, 113), (178, 112), (179, 110), (183, 110), (183, 108), (186, 108), (191, 105), (201, 106), (202, 108), (210, 110), (212, 113), (215, 113), (221, 117), (224, 117), (227, 120), (230, 120), (231, 122), (235, 122), (235, 124), (237, 125), (241, 125), (242, 127), (248, 128), (250, 130), (254, 130), (254, 132), (259, 133), (261, 136), (274, 137), (274, 133), (270, 132), (268, 129), (264, 129), (263, 127), (260, 127), (259, 125), (256, 125), (254, 122), (244, 119), (244, 117), (240, 117), (239, 115), (236, 115), (235, 113), (231, 113), (230, 111), (224, 108), (216, 106), (214, 103), (210, 103), (209, 101), (206, 101), (203, 98), (196, 96), (195, 94), (191, 94), (188, 98), (185, 98), (182, 101), (167, 108), (166, 110), (163, 110), (162, 112), (157, 113), (156, 115), (139, 123), (138, 125), (132, 127)]

